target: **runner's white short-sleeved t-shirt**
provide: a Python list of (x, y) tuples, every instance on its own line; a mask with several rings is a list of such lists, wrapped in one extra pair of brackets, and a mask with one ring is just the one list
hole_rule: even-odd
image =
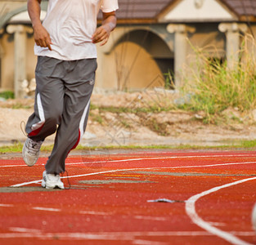
[(97, 29), (97, 14), (116, 11), (118, 0), (49, 0), (43, 26), (52, 40), (52, 51), (34, 46), (36, 56), (59, 60), (97, 58), (92, 34)]

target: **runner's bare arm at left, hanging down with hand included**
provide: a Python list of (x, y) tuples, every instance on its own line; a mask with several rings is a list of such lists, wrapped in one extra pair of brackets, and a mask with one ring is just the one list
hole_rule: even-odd
[(28, 12), (34, 29), (34, 41), (40, 47), (48, 47), (52, 51), (51, 38), (40, 20), (41, 0), (28, 0)]

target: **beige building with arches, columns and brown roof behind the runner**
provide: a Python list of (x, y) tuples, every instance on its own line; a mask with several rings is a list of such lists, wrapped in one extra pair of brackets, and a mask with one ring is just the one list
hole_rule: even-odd
[[(0, 10), (0, 88), (25, 96), (36, 64), (26, 0), (0, 1)], [(42, 10), (43, 19), (47, 1)], [(98, 47), (97, 87), (110, 90), (164, 87), (167, 73), (178, 88), (194, 49), (231, 68), (245, 33), (256, 36), (256, 0), (119, 0), (117, 16), (110, 42)]]

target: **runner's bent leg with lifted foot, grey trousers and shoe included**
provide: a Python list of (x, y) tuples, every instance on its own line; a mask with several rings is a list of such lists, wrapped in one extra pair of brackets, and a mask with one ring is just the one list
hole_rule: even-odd
[(26, 124), (28, 139), (22, 151), (28, 166), (36, 163), (43, 140), (52, 135), (56, 131), (56, 125), (61, 123), (65, 91), (60, 78), (61, 62), (48, 57), (38, 57), (34, 113)]

